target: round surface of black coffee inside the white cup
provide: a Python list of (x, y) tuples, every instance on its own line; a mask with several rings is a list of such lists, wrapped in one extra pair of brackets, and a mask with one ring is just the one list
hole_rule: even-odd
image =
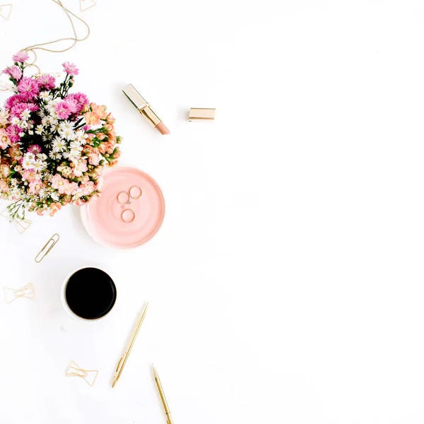
[(71, 311), (78, 317), (104, 317), (117, 300), (117, 288), (110, 276), (97, 268), (84, 268), (69, 278), (65, 298)]

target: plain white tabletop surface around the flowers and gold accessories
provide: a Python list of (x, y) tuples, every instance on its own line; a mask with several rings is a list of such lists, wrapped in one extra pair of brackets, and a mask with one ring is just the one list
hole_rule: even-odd
[[(10, 1), (1, 67), (71, 35), (52, 1)], [(78, 208), (21, 236), (1, 220), (0, 285), (37, 290), (0, 302), (1, 423), (165, 423), (151, 363), (176, 424), (423, 423), (423, 2), (98, 0), (82, 16), (89, 39), (38, 64), (78, 65), (76, 90), (114, 113), (122, 163), (167, 211), (129, 252), (90, 240)], [(131, 109), (129, 82), (170, 136)], [(90, 263), (117, 305), (64, 333), (61, 283)], [(93, 388), (69, 360), (100, 370)]]

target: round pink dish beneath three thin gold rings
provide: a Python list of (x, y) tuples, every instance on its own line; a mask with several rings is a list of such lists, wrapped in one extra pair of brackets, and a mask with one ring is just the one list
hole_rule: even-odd
[[(102, 245), (131, 249), (151, 240), (158, 232), (165, 216), (165, 199), (155, 180), (133, 167), (116, 167), (103, 175), (102, 195), (81, 207), (81, 218), (88, 234)], [(129, 199), (131, 204), (121, 204), (129, 196), (118, 195), (131, 191), (138, 199)], [(132, 212), (125, 212), (131, 209)], [(131, 222), (124, 222), (124, 220)], [(134, 220), (133, 219), (134, 216)]]

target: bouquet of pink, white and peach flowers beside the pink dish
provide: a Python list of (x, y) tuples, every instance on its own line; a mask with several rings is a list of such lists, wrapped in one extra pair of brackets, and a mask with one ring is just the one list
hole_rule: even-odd
[(0, 110), (0, 199), (12, 202), (12, 220), (88, 203), (120, 155), (112, 114), (83, 93), (69, 93), (76, 66), (64, 63), (66, 77), (57, 85), (50, 75), (24, 76), (26, 60), (18, 52), (3, 71), (15, 94)]

